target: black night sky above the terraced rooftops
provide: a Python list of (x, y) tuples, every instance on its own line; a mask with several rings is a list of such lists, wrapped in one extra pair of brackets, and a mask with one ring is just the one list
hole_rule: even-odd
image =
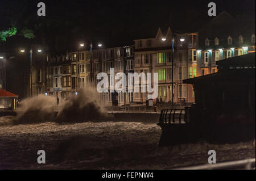
[[(36, 14), (38, 2), (46, 3), (45, 18)], [(210, 19), (209, 2), (217, 4), (217, 14), (226, 10), (232, 16), (255, 18), (255, 0), (0, 0), (0, 31), (12, 24), (18, 30), (31, 28), (36, 35), (33, 41), (42, 43), (44, 37), (55, 50), (72, 50), (77, 42), (90, 40), (131, 44), (133, 39), (155, 36), (158, 27), (165, 31), (171, 26), (175, 32), (198, 30)], [(21, 41), (17, 39), (9, 41)]]

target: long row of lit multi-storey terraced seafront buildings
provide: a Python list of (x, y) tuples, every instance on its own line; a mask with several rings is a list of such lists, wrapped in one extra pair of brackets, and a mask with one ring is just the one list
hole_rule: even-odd
[[(96, 86), (100, 81), (97, 74), (105, 72), (110, 76), (109, 69), (114, 68), (115, 74), (158, 73), (159, 99), (163, 102), (173, 100), (175, 104), (194, 103), (193, 87), (184, 84), (184, 79), (216, 73), (218, 61), (253, 52), (255, 24), (251, 25), (244, 17), (233, 18), (224, 11), (195, 32), (172, 32), (170, 27), (162, 31), (159, 28), (152, 35), (135, 39), (133, 45), (69, 52), (61, 56), (63, 61), (57, 63), (60, 65), (48, 64), (48, 69), (52, 70), (50, 67), (53, 66), (53, 73), (48, 70), (47, 92), (59, 97), (75, 94), (88, 84)], [(53, 62), (56, 64), (58, 60), (53, 58)], [(110, 79), (109, 83), (114, 84)], [(141, 82), (138, 84), (143, 86)], [(145, 104), (147, 100), (144, 92), (108, 92), (99, 96), (109, 106)]]

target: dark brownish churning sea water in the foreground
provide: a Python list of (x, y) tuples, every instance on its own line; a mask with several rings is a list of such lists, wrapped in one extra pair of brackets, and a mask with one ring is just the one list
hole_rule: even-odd
[[(171, 169), (208, 162), (255, 158), (252, 142), (207, 142), (158, 148), (156, 123), (41, 123), (0, 126), (0, 169)], [(175, 139), (175, 137), (174, 137)], [(46, 151), (46, 164), (37, 151)]]

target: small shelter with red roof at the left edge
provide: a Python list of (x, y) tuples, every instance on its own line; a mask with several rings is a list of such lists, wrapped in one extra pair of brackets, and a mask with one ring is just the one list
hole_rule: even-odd
[(0, 89), (0, 111), (16, 110), (16, 100), (18, 95), (15, 95), (4, 89)]

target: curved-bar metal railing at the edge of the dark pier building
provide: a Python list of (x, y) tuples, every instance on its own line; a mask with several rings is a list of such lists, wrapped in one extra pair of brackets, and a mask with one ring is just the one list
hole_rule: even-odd
[(187, 123), (187, 111), (184, 109), (162, 110), (159, 117), (160, 124)]

